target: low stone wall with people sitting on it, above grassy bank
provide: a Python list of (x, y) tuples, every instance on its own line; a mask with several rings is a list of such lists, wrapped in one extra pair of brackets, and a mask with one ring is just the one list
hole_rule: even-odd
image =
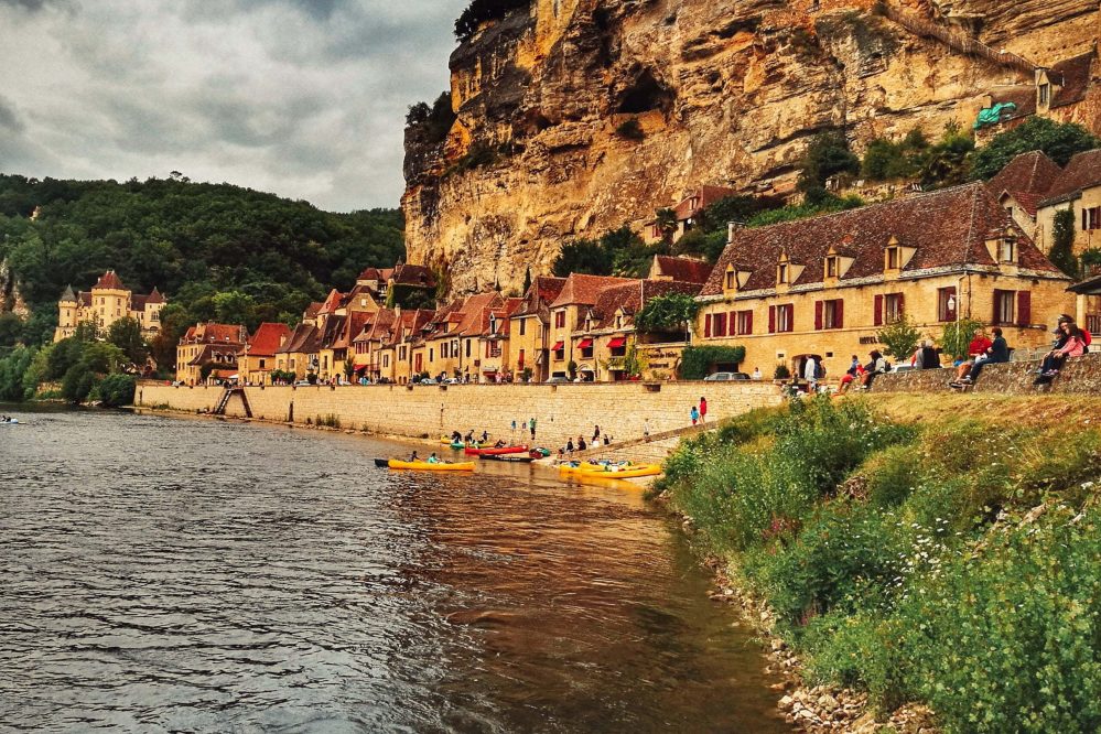
[[(1033, 395), (1040, 390), (1065, 395), (1101, 395), (1101, 353), (1068, 359), (1050, 388), (1033, 386), (1038, 367), (1039, 361), (989, 365), (983, 368), (971, 390), (1006, 395)], [(872, 391), (942, 392), (948, 389), (947, 384), (954, 376), (954, 369), (926, 369), (883, 375), (872, 384)]]

